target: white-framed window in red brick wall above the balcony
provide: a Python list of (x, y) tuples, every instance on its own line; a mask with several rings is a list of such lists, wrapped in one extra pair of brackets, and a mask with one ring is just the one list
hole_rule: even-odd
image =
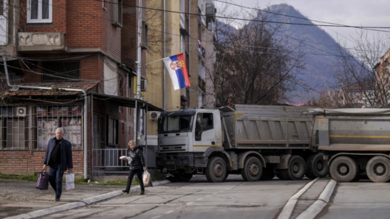
[(52, 0), (27, 0), (27, 23), (51, 23)]

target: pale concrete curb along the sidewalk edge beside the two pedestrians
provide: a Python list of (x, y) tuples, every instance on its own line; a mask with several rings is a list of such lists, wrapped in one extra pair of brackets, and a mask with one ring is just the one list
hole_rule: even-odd
[[(153, 182), (153, 186), (162, 185), (162, 184), (166, 184), (166, 183), (169, 183), (169, 182), (170, 182), (169, 180), (155, 181), (155, 182)], [(139, 185), (133, 186), (130, 189), (130, 191), (132, 191), (132, 192), (139, 191), (139, 190), (140, 190), (140, 186)], [(38, 218), (38, 217), (42, 217), (42, 216), (45, 216), (45, 215), (54, 214), (54, 213), (57, 213), (57, 212), (60, 212), (60, 211), (66, 211), (66, 210), (70, 210), (70, 209), (73, 209), (73, 208), (82, 207), (82, 206), (89, 205), (89, 204), (92, 204), (92, 203), (95, 203), (95, 202), (98, 202), (98, 201), (102, 201), (102, 200), (105, 200), (105, 199), (110, 199), (110, 198), (113, 198), (113, 197), (116, 197), (116, 196), (120, 196), (122, 194), (123, 194), (123, 192), (121, 190), (118, 190), (118, 191), (114, 191), (114, 192), (101, 194), (101, 195), (98, 195), (98, 196), (93, 196), (93, 197), (90, 197), (90, 198), (85, 198), (85, 199), (82, 199), (80, 201), (76, 201), (76, 202), (72, 202), (72, 203), (66, 203), (66, 204), (62, 204), (62, 205), (58, 205), (58, 206), (54, 206), (54, 207), (50, 207), (50, 208), (46, 208), (46, 209), (40, 209), (40, 210), (37, 210), (37, 211), (33, 211), (33, 212), (25, 213), (25, 214), (20, 214), (20, 215), (15, 215), (15, 216), (7, 217), (7, 218), (4, 218), (4, 219), (33, 219), (33, 218)]]

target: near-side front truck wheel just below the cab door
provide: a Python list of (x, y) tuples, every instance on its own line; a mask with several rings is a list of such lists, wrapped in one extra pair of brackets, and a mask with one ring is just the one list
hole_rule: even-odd
[(213, 157), (206, 167), (206, 178), (209, 182), (223, 182), (225, 180), (226, 163), (220, 157)]

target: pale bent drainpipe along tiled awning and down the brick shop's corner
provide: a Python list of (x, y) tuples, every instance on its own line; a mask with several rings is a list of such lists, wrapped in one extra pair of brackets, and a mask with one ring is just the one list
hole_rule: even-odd
[[(5, 56), (3, 55), (3, 62), (4, 62), (4, 72), (5, 72), (5, 78), (7, 80), (7, 85), (9, 87), (13, 87), (11, 83), (9, 82), (9, 77), (8, 77), (8, 67), (7, 67), (7, 61), (5, 60)], [(25, 89), (40, 89), (40, 90), (51, 90), (53, 89), (52, 87), (36, 87), (36, 86), (23, 86), (23, 85), (18, 85), (20, 88), (25, 88)], [(87, 141), (87, 92), (82, 89), (72, 89), (72, 88), (59, 88), (63, 89), (65, 91), (76, 91), (76, 92), (82, 92), (84, 95), (84, 179), (88, 179), (87, 177), (87, 155), (88, 155), (88, 141)]]

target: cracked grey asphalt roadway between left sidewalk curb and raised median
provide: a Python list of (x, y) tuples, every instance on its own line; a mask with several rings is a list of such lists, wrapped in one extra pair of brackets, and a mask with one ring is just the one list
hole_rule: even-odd
[[(210, 183), (203, 176), (196, 176), (190, 182), (148, 187), (144, 196), (137, 193), (122, 194), (88, 206), (51, 214), (50, 218), (276, 219), (287, 201), (312, 181), (275, 179), (246, 182), (241, 177), (234, 177), (230, 176), (223, 183)], [(321, 186), (313, 186), (318, 191), (308, 190), (304, 194), (310, 197), (310, 193), (313, 193), (318, 197), (327, 181), (329, 179)]]

